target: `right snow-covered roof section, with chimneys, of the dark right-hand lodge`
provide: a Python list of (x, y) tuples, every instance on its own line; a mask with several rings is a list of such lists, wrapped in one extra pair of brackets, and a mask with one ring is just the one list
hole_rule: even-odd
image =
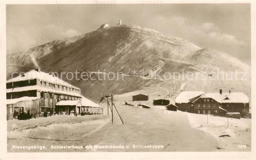
[(201, 98), (212, 98), (219, 103), (249, 103), (249, 98), (242, 92), (206, 93)]

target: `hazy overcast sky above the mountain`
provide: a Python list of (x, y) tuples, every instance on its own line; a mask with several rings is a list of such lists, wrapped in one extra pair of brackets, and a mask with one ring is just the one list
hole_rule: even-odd
[(7, 5), (7, 53), (86, 34), (103, 23), (134, 24), (251, 61), (250, 4)]

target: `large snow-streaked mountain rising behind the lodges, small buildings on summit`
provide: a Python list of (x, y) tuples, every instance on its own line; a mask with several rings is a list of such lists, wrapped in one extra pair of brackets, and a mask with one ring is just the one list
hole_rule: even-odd
[[(153, 79), (154, 71), (159, 70), (162, 70), (161, 76), (166, 71), (245, 71), (247, 81), (193, 81), (186, 87), (191, 90), (198, 87), (197, 90), (203, 88), (206, 91), (215, 91), (222, 87), (232, 88), (247, 95), (251, 92), (250, 67), (233, 56), (200, 48), (180, 38), (166, 38), (155, 30), (130, 24), (106, 26), (88, 34), (55, 40), (26, 51), (7, 54), (7, 79), (12, 71), (27, 71), (37, 67), (46, 72), (105, 70), (114, 73), (119, 71), (126, 75), (132, 75), (132, 70), (138, 70), (138, 73), (140, 70), (146, 70), (146, 77), (139, 74), (135, 77), (125, 76), (124, 81), (69, 81), (72, 85), (80, 87), (83, 95), (95, 100), (99, 100), (104, 94), (121, 94), (143, 89), (154, 83), (162, 83), (159, 79)], [(173, 87), (166, 83), (166, 88)], [(193, 86), (189, 87), (190, 84)]]

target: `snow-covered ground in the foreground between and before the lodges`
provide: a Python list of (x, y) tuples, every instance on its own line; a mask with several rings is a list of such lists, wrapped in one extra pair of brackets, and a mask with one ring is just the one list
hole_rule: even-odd
[[(156, 86), (157, 87), (157, 86)], [(162, 93), (158, 90), (114, 95), (114, 104), (124, 121), (122, 124), (113, 107), (113, 124), (110, 115), (52, 116), (31, 120), (7, 121), (8, 152), (182, 152), (182, 151), (250, 151), (251, 119), (240, 120), (186, 112), (165, 110), (153, 106), (152, 98)], [(134, 93), (150, 93), (149, 101), (141, 103), (150, 109), (139, 108), (140, 102), (128, 97)], [(167, 94), (167, 93), (166, 93)], [(124, 105), (124, 100), (134, 106)], [(109, 113), (110, 109), (109, 109)], [(230, 137), (219, 137), (228, 134)], [(12, 145), (43, 145), (46, 149), (13, 149)], [(83, 146), (83, 149), (52, 149), (51, 146)], [(123, 145), (125, 148), (85, 148), (89, 145)], [(136, 148), (159, 145), (162, 148)], [(246, 145), (239, 149), (238, 145)], [(128, 146), (128, 148), (126, 147)]]

